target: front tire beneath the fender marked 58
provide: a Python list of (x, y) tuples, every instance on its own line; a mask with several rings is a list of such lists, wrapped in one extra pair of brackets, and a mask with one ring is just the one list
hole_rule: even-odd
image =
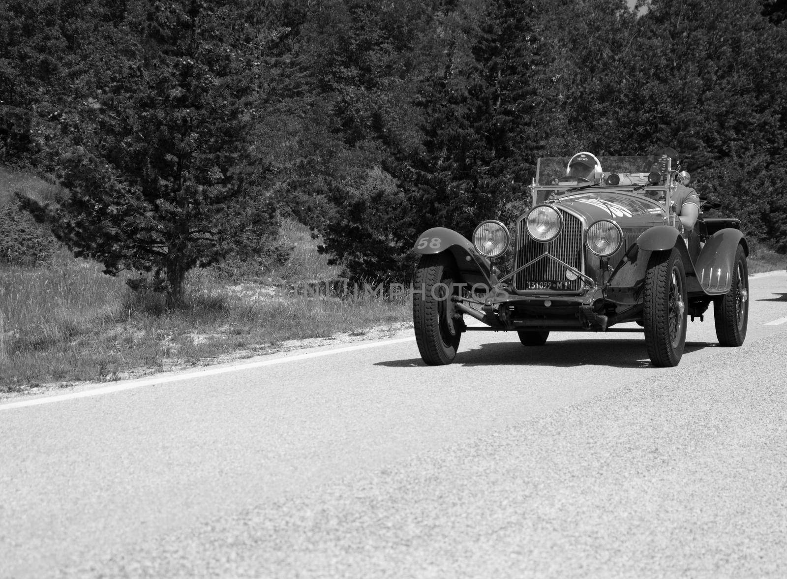
[(452, 363), (462, 337), (462, 321), (453, 319), (454, 276), (449, 256), (421, 257), (412, 294), (412, 323), (418, 351), (430, 366)]

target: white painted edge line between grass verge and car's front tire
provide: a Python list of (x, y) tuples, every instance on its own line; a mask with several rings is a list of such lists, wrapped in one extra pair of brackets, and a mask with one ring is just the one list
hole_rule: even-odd
[(252, 370), (253, 368), (274, 366), (275, 364), (298, 362), (300, 360), (309, 360), (311, 358), (318, 358), (320, 356), (331, 356), (331, 354), (342, 354), (344, 352), (354, 352), (356, 350), (376, 348), (382, 345), (399, 344), (401, 342), (412, 341), (415, 339), (416, 339), (415, 336), (398, 337), (395, 340), (379, 340), (368, 344), (347, 346), (346, 348), (338, 348), (335, 350), (325, 350), (321, 352), (307, 352), (305, 354), (297, 354), (295, 356), (283, 356), (282, 358), (274, 358), (272, 360), (257, 360), (257, 362), (238, 364), (237, 366), (206, 368), (205, 370), (188, 372), (187, 374), (160, 376), (158, 378), (156, 378), (155, 376), (153, 378), (140, 378), (139, 380), (129, 380), (127, 382), (119, 382), (117, 384), (113, 384), (109, 386), (102, 386), (101, 388), (82, 390), (81, 392), (72, 392), (68, 394), (59, 394), (57, 396), (46, 396), (41, 398), (31, 398), (29, 400), (20, 400), (19, 402), (10, 402), (9, 404), (0, 404), (0, 411), (11, 410), (12, 408), (24, 408), (27, 406), (38, 406), (39, 404), (51, 404), (53, 402), (63, 402), (65, 400), (74, 400), (76, 398), (87, 398), (87, 396), (101, 396), (102, 394), (122, 392), (123, 390), (142, 388), (142, 386), (150, 386), (153, 384), (166, 384), (168, 382), (179, 382), (181, 380), (190, 380), (191, 378), (204, 378), (205, 376), (217, 376), (219, 374), (229, 374), (231, 372), (238, 372), (242, 370)]

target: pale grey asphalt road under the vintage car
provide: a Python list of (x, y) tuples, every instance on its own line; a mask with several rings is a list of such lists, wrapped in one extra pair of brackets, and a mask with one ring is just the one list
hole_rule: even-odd
[(785, 360), (778, 272), (671, 369), (407, 332), (0, 401), (0, 577), (787, 577)]

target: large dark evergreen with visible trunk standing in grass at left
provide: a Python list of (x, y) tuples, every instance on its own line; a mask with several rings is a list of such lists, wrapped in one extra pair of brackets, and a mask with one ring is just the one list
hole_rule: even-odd
[(259, 15), (239, 1), (130, 2), (97, 41), (113, 46), (106, 84), (48, 143), (68, 190), (49, 209), (57, 238), (110, 275), (152, 271), (169, 304), (187, 271), (272, 223), (248, 157), (269, 41)]

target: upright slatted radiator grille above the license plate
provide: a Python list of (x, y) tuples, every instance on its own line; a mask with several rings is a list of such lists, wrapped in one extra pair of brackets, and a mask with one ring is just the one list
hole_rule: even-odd
[[(585, 273), (582, 267), (582, 221), (560, 210), (563, 216), (563, 230), (549, 243), (534, 241), (527, 234), (525, 219), (519, 219), (516, 227), (516, 267), (522, 267), (530, 260), (545, 253), (549, 248), (549, 255), (555, 256), (565, 264), (576, 267)], [(581, 281), (571, 281), (566, 278), (566, 267), (560, 265), (549, 257), (543, 257), (534, 264), (519, 271), (514, 278), (515, 289), (545, 289), (548, 291), (578, 291)]]

